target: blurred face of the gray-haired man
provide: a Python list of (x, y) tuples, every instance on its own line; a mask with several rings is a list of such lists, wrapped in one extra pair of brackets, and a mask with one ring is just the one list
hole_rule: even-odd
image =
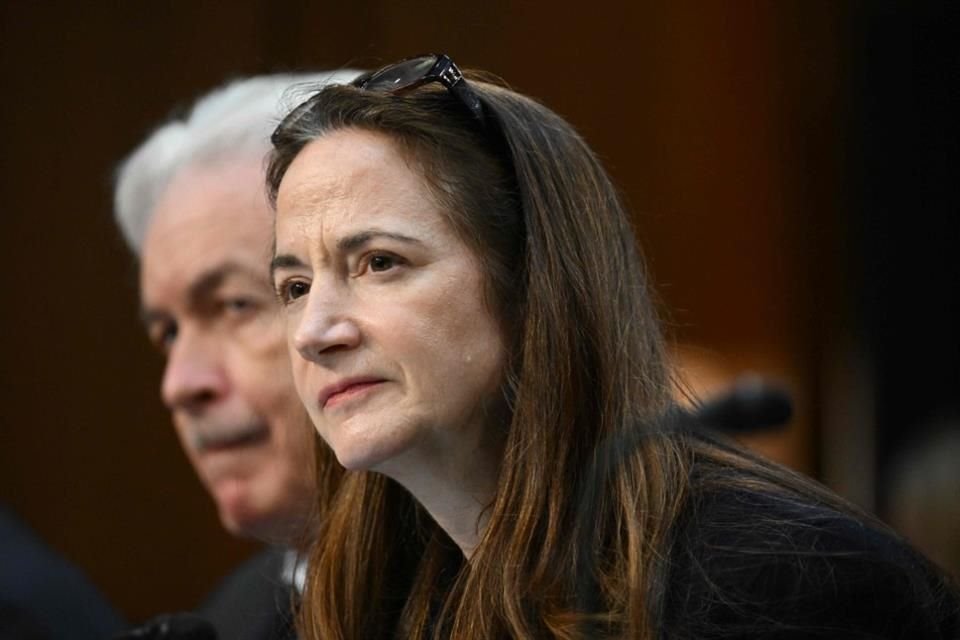
[(268, 264), (259, 159), (188, 166), (144, 239), (143, 315), (167, 357), (161, 394), (232, 533), (290, 542), (313, 496), (313, 429), (297, 398)]

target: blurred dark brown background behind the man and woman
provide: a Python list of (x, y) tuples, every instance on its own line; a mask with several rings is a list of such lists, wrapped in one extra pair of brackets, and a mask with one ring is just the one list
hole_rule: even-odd
[(955, 561), (955, 10), (617, 4), (0, 3), (0, 501), (133, 620), (194, 606), (256, 549), (220, 528), (161, 406), (113, 168), (225, 79), (443, 51), (598, 151), (695, 388), (791, 391), (789, 427), (748, 444)]

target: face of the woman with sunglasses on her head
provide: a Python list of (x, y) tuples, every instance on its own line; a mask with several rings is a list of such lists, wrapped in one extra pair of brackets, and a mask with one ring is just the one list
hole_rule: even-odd
[(300, 152), (272, 272), (297, 391), (341, 464), (395, 477), (477, 446), (504, 341), (479, 261), (389, 138), (342, 129)]

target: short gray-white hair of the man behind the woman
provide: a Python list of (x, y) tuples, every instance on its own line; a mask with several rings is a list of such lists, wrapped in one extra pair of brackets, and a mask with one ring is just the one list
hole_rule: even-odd
[(238, 155), (265, 158), (270, 134), (287, 112), (321, 86), (347, 83), (357, 74), (342, 70), (236, 80), (161, 125), (117, 168), (114, 218), (130, 248), (140, 254), (157, 201), (181, 169)]

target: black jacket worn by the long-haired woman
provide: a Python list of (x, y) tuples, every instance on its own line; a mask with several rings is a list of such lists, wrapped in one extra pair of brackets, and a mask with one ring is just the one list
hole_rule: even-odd
[(892, 532), (811, 501), (694, 495), (663, 638), (960, 638), (958, 595)]

